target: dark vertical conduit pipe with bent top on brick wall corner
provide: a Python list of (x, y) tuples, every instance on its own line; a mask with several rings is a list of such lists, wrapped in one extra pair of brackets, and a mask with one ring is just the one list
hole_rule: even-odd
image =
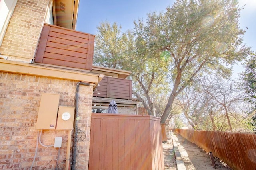
[(74, 138), (73, 138), (73, 149), (72, 149), (72, 165), (71, 170), (75, 170), (76, 168), (76, 143), (77, 143), (77, 117), (78, 117), (78, 97), (79, 97), (79, 85), (90, 86), (90, 83), (86, 82), (78, 82), (76, 84), (76, 98), (75, 98), (75, 115), (74, 115)]

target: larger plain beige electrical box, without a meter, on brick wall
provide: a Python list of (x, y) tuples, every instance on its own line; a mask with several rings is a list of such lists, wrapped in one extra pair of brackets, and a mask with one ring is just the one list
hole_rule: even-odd
[(60, 94), (42, 93), (36, 129), (55, 129)]

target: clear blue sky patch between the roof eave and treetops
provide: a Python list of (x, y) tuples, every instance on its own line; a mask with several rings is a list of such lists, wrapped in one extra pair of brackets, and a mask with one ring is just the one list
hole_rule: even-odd
[(122, 31), (133, 29), (134, 20), (164, 11), (174, 0), (80, 0), (76, 30), (96, 34), (100, 22), (116, 22)]

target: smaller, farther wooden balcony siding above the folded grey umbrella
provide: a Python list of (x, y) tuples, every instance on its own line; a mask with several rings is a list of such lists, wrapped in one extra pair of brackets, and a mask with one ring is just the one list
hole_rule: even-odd
[(132, 80), (104, 77), (93, 96), (132, 100)]

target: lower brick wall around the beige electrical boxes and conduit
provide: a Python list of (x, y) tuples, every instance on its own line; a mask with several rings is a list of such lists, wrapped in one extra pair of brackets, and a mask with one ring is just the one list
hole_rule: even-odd
[[(0, 169), (30, 168), (36, 150), (35, 123), (41, 94), (60, 94), (60, 106), (74, 106), (76, 84), (72, 80), (0, 72)], [(77, 143), (76, 169), (80, 170), (88, 169), (92, 88), (79, 87), (78, 128), (83, 133), (78, 133), (78, 137), (86, 134)], [(41, 141), (53, 145), (54, 137), (62, 137), (58, 166), (64, 169), (68, 131), (44, 130)], [(54, 169), (57, 156), (57, 148), (39, 144), (33, 169), (43, 169), (49, 162), (46, 169)]]

